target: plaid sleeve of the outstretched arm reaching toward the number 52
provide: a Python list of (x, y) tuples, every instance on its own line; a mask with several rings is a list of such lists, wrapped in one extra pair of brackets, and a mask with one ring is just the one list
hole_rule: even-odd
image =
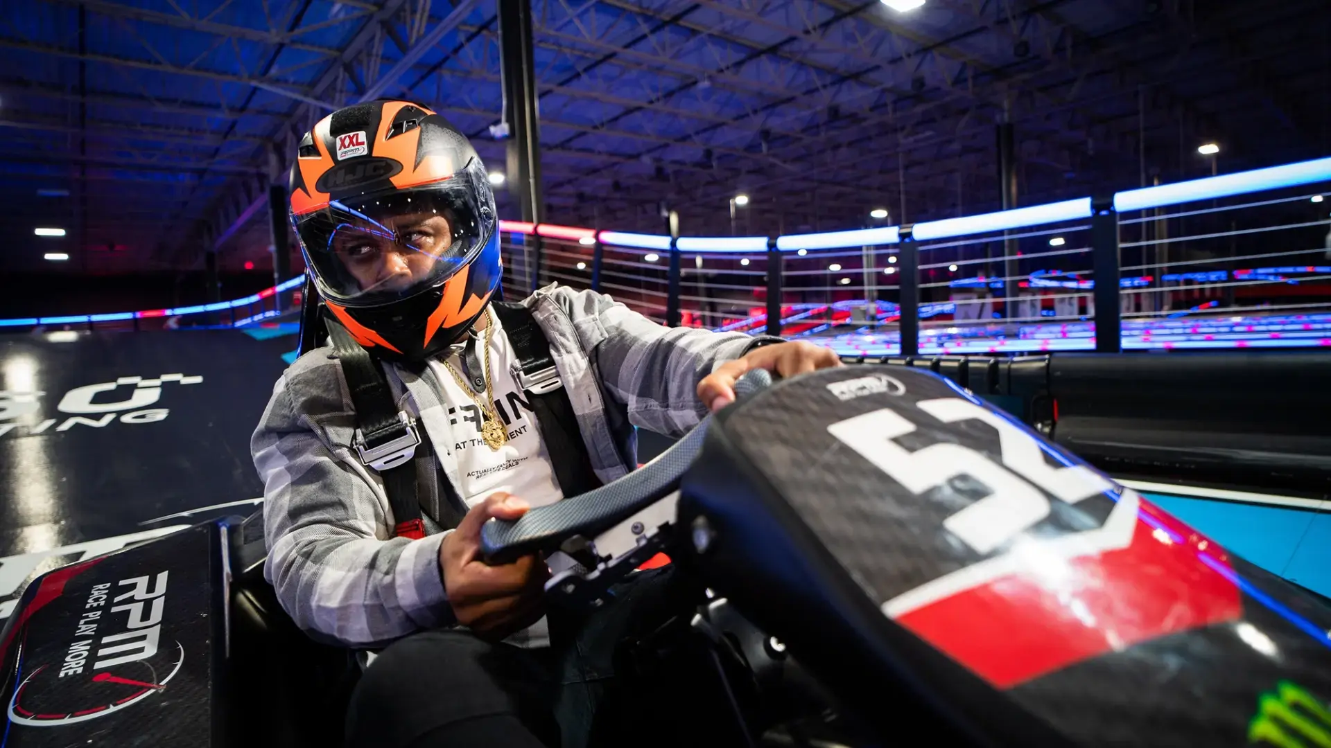
[(780, 342), (767, 335), (666, 327), (608, 295), (559, 290), (583, 338), (599, 341), (592, 357), (606, 391), (627, 407), (634, 426), (668, 437), (683, 435), (707, 415), (697, 383), (716, 366), (764, 342)]

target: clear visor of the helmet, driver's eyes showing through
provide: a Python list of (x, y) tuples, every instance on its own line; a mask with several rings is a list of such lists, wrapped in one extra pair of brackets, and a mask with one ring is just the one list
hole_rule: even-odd
[(325, 298), (378, 306), (471, 262), (495, 230), (494, 197), (474, 160), (441, 182), (333, 201), (297, 216), (295, 230)]

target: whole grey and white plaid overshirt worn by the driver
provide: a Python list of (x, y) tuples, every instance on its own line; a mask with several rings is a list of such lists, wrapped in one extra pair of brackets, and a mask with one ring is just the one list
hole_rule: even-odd
[[(743, 333), (663, 327), (607, 295), (547, 286), (523, 301), (550, 341), (591, 465), (602, 480), (636, 466), (634, 427), (672, 437), (707, 413), (699, 381), (760, 341)], [(417, 459), (426, 515), (442, 479), (459, 484), (439, 383), (386, 365), (401, 407), (434, 446)], [(355, 414), (331, 349), (310, 351), (277, 381), (250, 441), (264, 480), (265, 575), (295, 623), (315, 638), (379, 647), (451, 623), (439, 572), (443, 534), (394, 538), (379, 475), (351, 449)], [(419, 454), (419, 451), (418, 451)], [(427, 523), (430, 524), (430, 523)]]

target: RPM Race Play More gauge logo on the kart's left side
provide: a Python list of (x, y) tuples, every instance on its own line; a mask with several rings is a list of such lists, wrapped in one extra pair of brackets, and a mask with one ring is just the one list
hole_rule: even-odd
[[(32, 669), (9, 699), (9, 720), (29, 727), (87, 721), (161, 693), (180, 672), (185, 648), (161, 642), (169, 572), (93, 584), (69, 646)], [(21, 671), (20, 671), (21, 672)]]

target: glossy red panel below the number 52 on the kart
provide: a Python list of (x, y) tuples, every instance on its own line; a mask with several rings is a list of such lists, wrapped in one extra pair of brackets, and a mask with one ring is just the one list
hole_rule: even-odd
[[(1225, 551), (1145, 500), (1138, 511), (1126, 548), (1053, 566), (1033, 559), (1046, 563), (894, 619), (1008, 688), (1138, 642), (1239, 618), (1238, 587), (1198, 559), (1225, 564)], [(957, 624), (977, 620), (984, 626)]]

